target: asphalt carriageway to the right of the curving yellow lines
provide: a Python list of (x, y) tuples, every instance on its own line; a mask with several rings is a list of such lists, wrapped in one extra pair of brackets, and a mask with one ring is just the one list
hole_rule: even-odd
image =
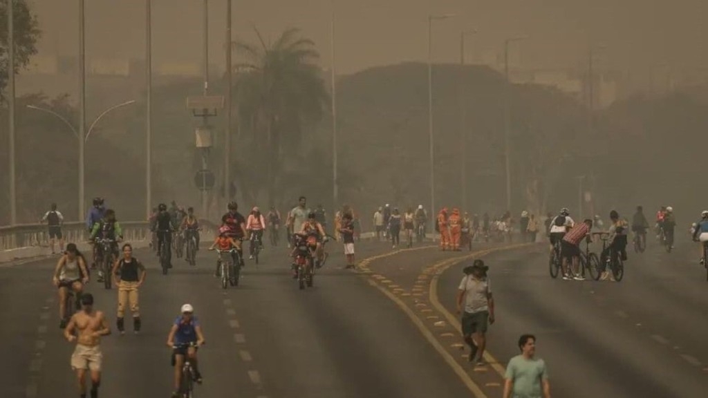
[[(619, 283), (553, 280), (545, 246), (484, 256), (496, 298), (491, 354), (506, 367), (518, 337), (535, 334), (554, 397), (706, 397), (708, 282), (697, 246), (681, 238), (671, 254), (653, 241), (630, 252)], [(450, 312), (461, 269), (439, 281)]]

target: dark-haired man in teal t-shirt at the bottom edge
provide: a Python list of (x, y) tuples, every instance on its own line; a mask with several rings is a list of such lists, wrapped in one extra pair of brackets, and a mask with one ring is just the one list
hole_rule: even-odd
[(509, 360), (504, 378), (504, 398), (551, 398), (546, 363), (534, 358), (536, 337), (524, 334), (519, 338), (521, 355)]

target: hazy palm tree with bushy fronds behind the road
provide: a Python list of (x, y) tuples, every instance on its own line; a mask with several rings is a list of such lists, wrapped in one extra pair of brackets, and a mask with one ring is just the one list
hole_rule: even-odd
[[(241, 154), (249, 158), (249, 166), (265, 169), (265, 186), (251, 190), (266, 188), (268, 200), (274, 204), (275, 184), (285, 176), (283, 155), (287, 154), (288, 161), (299, 159), (298, 154), (303, 153), (300, 145), (321, 121), (329, 93), (316, 64), (319, 52), (312, 40), (303, 38), (295, 28), (285, 30), (272, 44), (266, 43), (258, 30), (256, 35), (258, 45), (233, 43), (246, 59), (236, 65), (235, 92), (241, 129), (253, 148)], [(242, 143), (244, 138), (241, 135)], [(289, 164), (289, 175), (297, 171), (297, 164), (301, 163)], [(256, 180), (263, 181), (263, 176), (259, 177)]]

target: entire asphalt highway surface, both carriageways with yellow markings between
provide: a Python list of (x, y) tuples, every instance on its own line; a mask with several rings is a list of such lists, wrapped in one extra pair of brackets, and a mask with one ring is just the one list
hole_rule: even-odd
[[(527, 332), (539, 339), (554, 397), (705, 396), (708, 283), (694, 246), (630, 254), (621, 283), (552, 280), (544, 247), (481, 254), (491, 266), (497, 322), (489, 332), (492, 361), (478, 369), (459, 349), (453, 315), (462, 276), (455, 258), (467, 252), (392, 254), (385, 244), (362, 243), (358, 257), (370, 259), (365, 272), (353, 273), (341, 269), (333, 244), (316, 287), (302, 292), (285, 248), (267, 249), (261, 265), (248, 263), (241, 286), (226, 291), (213, 277), (212, 252), (202, 249), (196, 267), (176, 261), (163, 276), (154, 254), (139, 250), (149, 268), (143, 331), (104, 339), (101, 395), (168, 396), (166, 334), (190, 302), (207, 338), (203, 397), (501, 397), (499, 373)], [(53, 267), (47, 260), (0, 266), (3, 397), (76, 394)], [(114, 326), (115, 290), (95, 283), (89, 290)]]

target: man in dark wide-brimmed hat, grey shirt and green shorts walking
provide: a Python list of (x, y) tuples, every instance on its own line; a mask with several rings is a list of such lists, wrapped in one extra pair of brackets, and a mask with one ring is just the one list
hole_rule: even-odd
[(457, 313), (462, 313), (462, 336), (471, 350), (469, 362), (476, 366), (484, 365), (485, 334), (487, 326), (494, 323), (494, 300), (487, 270), (489, 266), (484, 265), (484, 261), (474, 260), (471, 266), (464, 268), (465, 275), (457, 290)]

